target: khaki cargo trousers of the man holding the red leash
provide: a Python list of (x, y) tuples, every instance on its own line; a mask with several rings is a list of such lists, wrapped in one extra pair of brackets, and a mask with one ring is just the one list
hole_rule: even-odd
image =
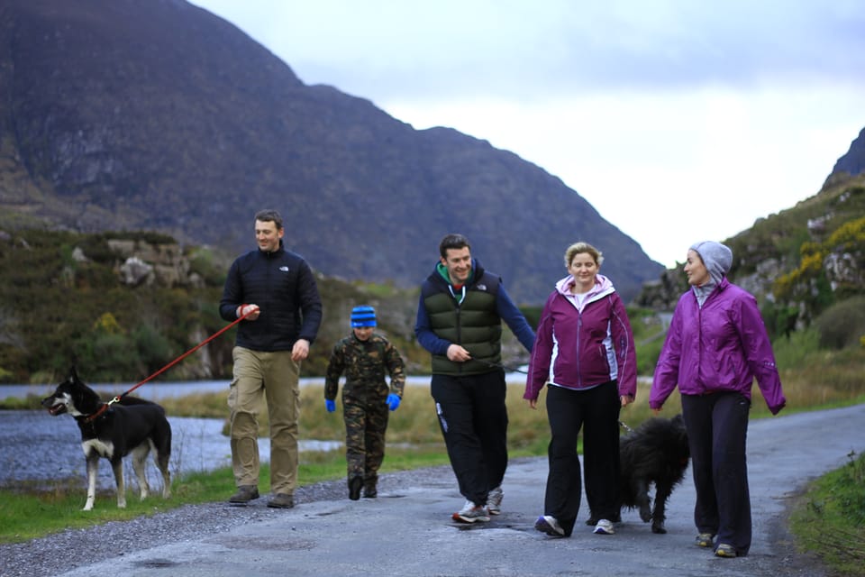
[(261, 398), (270, 419), (270, 490), (293, 495), (297, 484), (297, 420), (300, 417), (300, 363), (291, 351), (264, 353), (235, 346), (234, 378), (228, 392), (234, 482), (259, 484)]

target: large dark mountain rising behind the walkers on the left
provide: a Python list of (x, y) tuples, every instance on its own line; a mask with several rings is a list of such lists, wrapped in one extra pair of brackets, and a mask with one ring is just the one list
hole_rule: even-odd
[(305, 86), (187, 2), (0, 4), (0, 226), (150, 230), (235, 254), (263, 207), (344, 279), (414, 286), (450, 232), (525, 303), (542, 302), (576, 240), (605, 252), (625, 298), (663, 270), (541, 167)]

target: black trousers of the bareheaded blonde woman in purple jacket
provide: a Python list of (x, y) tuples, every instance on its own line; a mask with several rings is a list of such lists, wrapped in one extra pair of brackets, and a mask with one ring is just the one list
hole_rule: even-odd
[(550, 472), (543, 499), (545, 515), (556, 517), (570, 536), (582, 491), (577, 440), (583, 431), (586, 500), (591, 516), (619, 517), (619, 388), (615, 380), (593, 389), (547, 387)]

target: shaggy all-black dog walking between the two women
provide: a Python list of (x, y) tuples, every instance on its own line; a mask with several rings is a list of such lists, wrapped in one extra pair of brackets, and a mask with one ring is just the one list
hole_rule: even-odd
[[(651, 521), (652, 533), (664, 528), (667, 499), (685, 477), (691, 453), (687, 447), (685, 420), (651, 418), (619, 441), (622, 507), (639, 508), (640, 518)], [(649, 486), (655, 485), (655, 506), (651, 508)]]

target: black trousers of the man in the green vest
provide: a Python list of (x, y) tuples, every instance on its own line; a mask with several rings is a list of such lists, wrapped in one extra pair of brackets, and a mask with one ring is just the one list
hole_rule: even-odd
[(467, 377), (432, 375), (439, 426), (460, 493), (476, 505), (502, 484), (507, 468), (505, 372)]

